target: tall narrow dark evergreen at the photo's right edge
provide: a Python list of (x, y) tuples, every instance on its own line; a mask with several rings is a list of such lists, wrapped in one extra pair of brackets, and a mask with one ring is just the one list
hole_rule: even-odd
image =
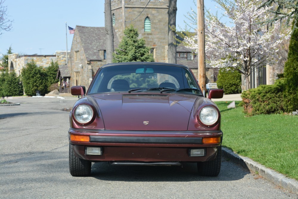
[[(298, 23), (298, 20), (297, 20)], [(293, 26), (294, 28), (294, 26)], [(285, 63), (285, 92), (284, 108), (286, 111), (296, 111), (298, 109), (298, 28), (293, 30), (291, 35), (288, 60)]]

